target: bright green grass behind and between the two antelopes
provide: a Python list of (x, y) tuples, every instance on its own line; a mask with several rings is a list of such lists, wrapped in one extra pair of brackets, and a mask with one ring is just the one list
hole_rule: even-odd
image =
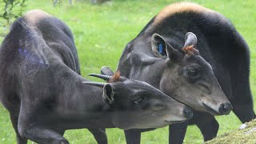
[[(42, 9), (62, 19), (74, 33), (75, 44), (82, 69), (82, 75), (98, 73), (102, 66), (115, 69), (124, 46), (134, 38), (146, 23), (164, 6), (174, 0), (113, 0), (102, 6), (92, 6), (88, 1), (74, 2), (73, 6), (63, 0), (61, 6), (53, 7), (51, 0), (30, 0), (27, 10)], [(246, 39), (251, 51), (250, 83), (256, 95), (256, 3), (254, 0), (191, 0), (224, 14)], [(254, 97), (255, 102), (256, 97)], [(254, 110), (255, 106), (254, 106)], [(217, 117), (220, 124), (218, 134), (224, 134), (240, 126), (232, 113)], [(126, 143), (122, 130), (107, 130), (109, 143)], [(70, 143), (95, 143), (87, 130), (67, 130)], [(167, 143), (168, 129), (162, 128), (142, 134), (142, 143)], [(15, 143), (14, 130), (8, 112), (0, 105), (0, 143)], [(189, 126), (184, 143), (202, 143), (202, 135), (196, 126)]]

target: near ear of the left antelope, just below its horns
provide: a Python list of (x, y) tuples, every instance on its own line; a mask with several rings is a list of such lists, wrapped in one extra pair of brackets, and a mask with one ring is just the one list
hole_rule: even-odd
[(109, 106), (114, 102), (114, 90), (111, 84), (108, 83), (103, 87), (102, 98), (103, 101), (106, 102), (106, 104)]

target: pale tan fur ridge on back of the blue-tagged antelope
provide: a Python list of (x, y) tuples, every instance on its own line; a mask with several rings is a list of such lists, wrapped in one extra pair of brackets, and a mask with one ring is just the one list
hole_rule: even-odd
[(165, 18), (170, 17), (173, 14), (183, 12), (194, 12), (194, 13), (213, 13), (214, 10), (207, 9), (206, 7), (200, 6), (191, 2), (176, 2), (166, 6), (162, 9), (154, 18), (154, 25), (162, 22)]

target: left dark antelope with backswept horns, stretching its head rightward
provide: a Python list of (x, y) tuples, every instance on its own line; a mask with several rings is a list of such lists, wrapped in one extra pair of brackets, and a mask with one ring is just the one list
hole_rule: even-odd
[(92, 74), (110, 78), (103, 84), (79, 74), (72, 33), (58, 18), (31, 10), (12, 24), (0, 48), (0, 100), (18, 144), (63, 144), (65, 130), (98, 134), (96, 128), (162, 127), (192, 117), (190, 108), (146, 82)]

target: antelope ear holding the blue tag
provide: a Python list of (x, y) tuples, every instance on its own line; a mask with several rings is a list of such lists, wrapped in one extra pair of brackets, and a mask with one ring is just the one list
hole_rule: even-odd
[(179, 55), (178, 50), (175, 50), (173, 46), (170, 46), (159, 34), (153, 34), (151, 38), (151, 46), (154, 55), (158, 58), (170, 58), (170, 60), (177, 58)]

